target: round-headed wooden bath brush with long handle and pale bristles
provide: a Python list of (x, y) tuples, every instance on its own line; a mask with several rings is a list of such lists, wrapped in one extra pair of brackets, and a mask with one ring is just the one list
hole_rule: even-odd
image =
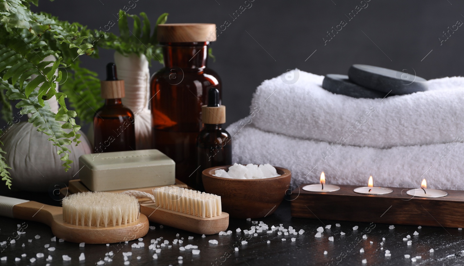
[(135, 197), (108, 192), (72, 194), (63, 199), (63, 208), (0, 196), (0, 216), (45, 223), (53, 235), (74, 243), (130, 241), (149, 227)]

